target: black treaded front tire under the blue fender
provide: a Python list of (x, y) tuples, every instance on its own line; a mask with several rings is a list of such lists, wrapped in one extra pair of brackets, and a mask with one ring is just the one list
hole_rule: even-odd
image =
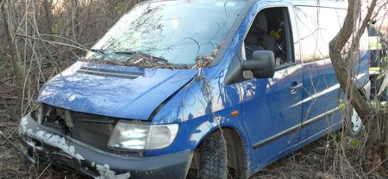
[(227, 178), (226, 143), (219, 132), (205, 138), (200, 146), (200, 153), (200, 179)]

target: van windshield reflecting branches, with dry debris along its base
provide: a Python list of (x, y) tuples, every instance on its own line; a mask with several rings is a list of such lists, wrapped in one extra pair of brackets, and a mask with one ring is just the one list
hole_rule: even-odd
[(174, 0), (140, 4), (93, 46), (87, 58), (122, 59), (141, 53), (172, 64), (194, 64), (199, 56), (217, 51), (244, 3)]

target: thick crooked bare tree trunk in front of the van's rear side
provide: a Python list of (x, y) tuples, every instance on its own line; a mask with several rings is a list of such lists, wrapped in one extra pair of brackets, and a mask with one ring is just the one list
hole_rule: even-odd
[[(334, 71), (341, 88), (347, 94), (347, 100), (350, 100), (361, 119), (363, 119), (364, 122), (369, 123), (368, 129), (371, 131), (369, 131), (370, 133), (366, 139), (367, 149), (365, 149), (365, 152), (373, 155), (378, 154), (379, 163), (381, 164), (385, 160), (386, 155), (388, 155), (388, 148), (384, 145), (387, 144), (387, 137), (384, 136), (387, 132), (384, 132), (384, 127), (376, 128), (375, 126), (379, 126), (380, 124), (382, 124), (382, 126), (386, 125), (387, 117), (382, 110), (376, 110), (372, 104), (367, 102), (361, 92), (356, 89), (356, 86), (352, 81), (352, 69), (354, 67), (354, 59), (352, 58), (352, 55), (358, 50), (359, 40), (371, 19), (372, 12), (376, 6), (376, 1), (377, 0), (372, 0), (371, 6), (368, 8), (367, 15), (363, 19), (360, 29), (356, 31), (356, 34), (352, 38), (350, 50), (347, 56), (343, 59), (341, 52), (343, 51), (345, 44), (352, 36), (353, 30), (355, 30), (355, 19), (358, 17), (358, 7), (361, 3), (360, 0), (348, 0), (348, 12), (345, 17), (344, 24), (339, 30), (337, 36), (330, 41), (329, 49)], [(350, 122), (345, 123), (349, 124)], [(385, 128), (388, 127), (386, 126)], [(376, 131), (376, 129), (378, 130)], [(378, 146), (378, 150), (376, 150), (376, 146)], [(388, 168), (387, 162), (385, 163), (385, 166)]]

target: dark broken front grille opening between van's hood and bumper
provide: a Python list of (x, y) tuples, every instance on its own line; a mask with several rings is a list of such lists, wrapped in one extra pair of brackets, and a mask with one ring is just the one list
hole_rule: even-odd
[(44, 105), (42, 124), (105, 151), (117, 119)]

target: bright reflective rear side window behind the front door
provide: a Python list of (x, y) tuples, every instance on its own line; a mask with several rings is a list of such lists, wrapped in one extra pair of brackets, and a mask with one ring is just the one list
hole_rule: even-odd
[(339, 32), (346, 10), (295, 6), (303, 62), (329, 58), (329, 43)]

